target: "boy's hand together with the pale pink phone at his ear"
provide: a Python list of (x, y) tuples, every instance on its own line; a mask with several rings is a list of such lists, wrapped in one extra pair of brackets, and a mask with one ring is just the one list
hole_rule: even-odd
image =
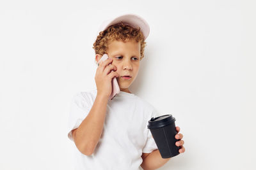
[(102, 55), (98, 62), (98, 68), (95, 74), (95, 82), (97, 85), (97, 95), (108, 96), (109, 100), (113, 99), (120, 92), (116, 77), (116, 67), (111, 63), (113, 59), (107, 54)]

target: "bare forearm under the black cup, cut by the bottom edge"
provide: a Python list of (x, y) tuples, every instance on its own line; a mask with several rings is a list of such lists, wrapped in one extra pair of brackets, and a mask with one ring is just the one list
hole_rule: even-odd
[(147, 155), (147, 157), (145, 157), (143, 159), (141, 167), (144, 170), (157, 169), (157, 168), (163, 166), (164, 164), (166, 164), (166, 162), (168, 162), (168, 160), (170, 160), (170, 159), (171, 158), (163, 159), (161, 157), (159, 150), (154, 150), (149, 155)]

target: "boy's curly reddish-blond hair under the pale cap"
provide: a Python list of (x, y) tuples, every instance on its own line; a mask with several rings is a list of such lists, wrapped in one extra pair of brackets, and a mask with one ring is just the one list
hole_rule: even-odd
[(93, 49), (95, 54), (103, 55), (108, 50), (108, 43), (117, 40), (133, 40), (140, 42), (140, 60), (144, 57), (144, 48), (146, 42), (144, 41), (144, 36), (140, 31), (140, 27), (134, 28), (130, 25), (124, 24), (122, 21), (118, 24), (110, 25), (104, 31), (100, 31), (95, 43), (93, 43)]

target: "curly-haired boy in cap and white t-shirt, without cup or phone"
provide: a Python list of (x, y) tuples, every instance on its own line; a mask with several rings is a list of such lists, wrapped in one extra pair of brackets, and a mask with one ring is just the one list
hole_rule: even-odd
[[(148, 33), (147, 22), (138, 15), (121, 15), (101, 25), (93, 43), (95, 60), (104, 53), (109, 59), (97, 67), (97, 90), (78, 92), (71, 103), (68, 138), (76, 145), (76, 169), (157, 169), (170, 160), (162, 159), (147, 129), (157, 111), (128, 89), (138, 74)], [(120, 93), (108, 100), (115, 77)], [(183, 144), (176, 143), (180, 153)]]

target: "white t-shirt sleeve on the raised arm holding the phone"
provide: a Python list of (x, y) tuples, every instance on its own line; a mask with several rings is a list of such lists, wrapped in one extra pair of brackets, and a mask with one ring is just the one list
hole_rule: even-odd
[(74, 141), (72, 137), (72, 130), (79, 127), (84, 118), (90, 112), (92, 106), (89, 104), (89, 100), (86, 96), (83, 96), (81, 92), (76, 93), (71, 100), (69, 118), (68, 118), (68, 138)]

